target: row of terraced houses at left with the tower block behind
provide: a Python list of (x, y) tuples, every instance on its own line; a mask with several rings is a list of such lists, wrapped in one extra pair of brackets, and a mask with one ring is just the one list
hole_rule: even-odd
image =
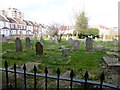
[(41, 34), (41, 24), (30, 20), (24, 20), (24, 13), (16, 8), (0, 10), (0, 35), (34, 35)]

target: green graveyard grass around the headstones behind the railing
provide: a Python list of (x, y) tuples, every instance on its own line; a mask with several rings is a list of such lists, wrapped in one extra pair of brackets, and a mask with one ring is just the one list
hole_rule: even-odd
[[(80, 43), (79, 50), (74, 51), (73, 47), (68, 46), (68, 42), (65, 40), (55, 44), (50, 43), (48, 38), (46, 38), (43, 46), (44, 54), (39, 56), (35, 53), (34, 40), (31, 40), (31, 43), (31, 48), (26, 48), (25, 40), (23, 39), (22, 52), (16, 52), (15, 41), (13, 43), (2, 43), (2, 53), (5, 53), (2, 54), (1, 67), (4, 67), (5, 61), (8, 61), (10, 69), (13, 69), (14, 63), (21, 67), (25, 63), (36, 62), (40, 63), (37, 67), (37, 73), (44, 73), (44, 68), (48, 67), (49, 74), (56, 75), (57, 68), (60, 68), (61, 75), (67, 70), (74, 70), (75, 75), (79, 76), (78, 78), (83, 78), (87, 70), (91, 75), (90, 79), (99, 80), (98, 77), (102, 71), (101, 66), (103, 65), (102, 57), (107, 56), (106, 51), (98, 52), (94, 50), (93, 53), (88, 53), (83, 43)], [(110, 41), (95, 41), (94, 47), (98, 44), (102, 44), (107, 49), (114, 47)], [(66, 48), (70, 48), (70, 56), (62, 56), (62, 49), (59, 49), (59, 47), (63, 45)], [(94, 75), (95, 77), (93, 78)]]

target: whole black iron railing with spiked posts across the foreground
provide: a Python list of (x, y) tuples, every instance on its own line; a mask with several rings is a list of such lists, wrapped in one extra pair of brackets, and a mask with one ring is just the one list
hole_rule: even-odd
[[(56, 79), (57, 80), (57, 90), (59, 90), (59, 81), (60, 80), (64, 80), (64, 81), (69, 81), (70, 82), (70, 90), (72, 90), (73, 88), (73, 82), (76, 82), (76, 83), (83, 83), (84, 84), (84, 90), (88, 90), (87, 89), (87, 86), (89, 84), (91, 85), (99, 85), (99, 89), (102, 90), (103, 86), (104, 87), (108, 87), (108, 88), (113, 88), (113, 89), (116, 89), (116, 90), (120, 90), (120, 87), (119, 86), (116, 86), (116, 85), (112, 85), (112, 84), (108, 84), (108, 83), (103, 83), (103, 81), (105, 80), (105, 76), (104, 76), (104, 72), (102, 72), (101, 76), (100, 76), (100, 82), (96, 82), (96, 81), (90, 81), (88, 80), (89, 78), (89, 74), (88, 72), (86, 71), (85, 72), (85, 75), (84, 75), (84, 80), (80, 80), (80, 79), (74, 79), (74, 72), (73, 70), (71, 70), (70, 72), (70, 78), (63, 78), (63, 77), (60, 77), (60, 69), (58, 68), (57, 69), (57, 76), (51, 76), (51, 75), (48, 75), (48, 69), (47, 67), (45, 68), (45, 75), (43, 74), (37, 74), (37, 68), (36, 66), (34, 66), (33, 68), (33, 71), (34, 73), (28, 73), (26, 72), (26, 66), (24, 64), (23, 66), (23, 72), (22, 71), (17, 71), (16, 70), (16, 64), (14, 63), (14, 70), (8, 70), (8, 63), (5, 61), (5, 69), (3, 68), (0, 68), (0, 71), (5, 71), (6, 72), (6, 88), (9, 90), (9, 89), (12, 89), (14, 88), (15, 90), (17, 89), (17, 77), (16, 77), (16, 74), (24, 74), (24, 89), (26, 90), (27, 89), (27, 84), (26, 84), (26, 75), (30, 75), (30, 76), (34, 76), (34, 90), (36, 90), (36, 77), (44, 77), (45, 78), (45, 90), (47, 90), (48, 86), (48, 78), (50, 79)], [(8, 78), (8, 72), (11, 72), (11, 73), (14, 73), (14, 86), (12, 86), (10, 83), (9, 83), (9, 78)]]

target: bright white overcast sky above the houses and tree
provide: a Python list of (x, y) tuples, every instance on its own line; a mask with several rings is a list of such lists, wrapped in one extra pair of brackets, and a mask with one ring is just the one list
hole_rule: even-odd
[(0, 0), (0, 9), (17, 8), (26, 20), (72, 25), (75, 12), (85, 10), (90, 25), (118, 26), (120, 0)]

